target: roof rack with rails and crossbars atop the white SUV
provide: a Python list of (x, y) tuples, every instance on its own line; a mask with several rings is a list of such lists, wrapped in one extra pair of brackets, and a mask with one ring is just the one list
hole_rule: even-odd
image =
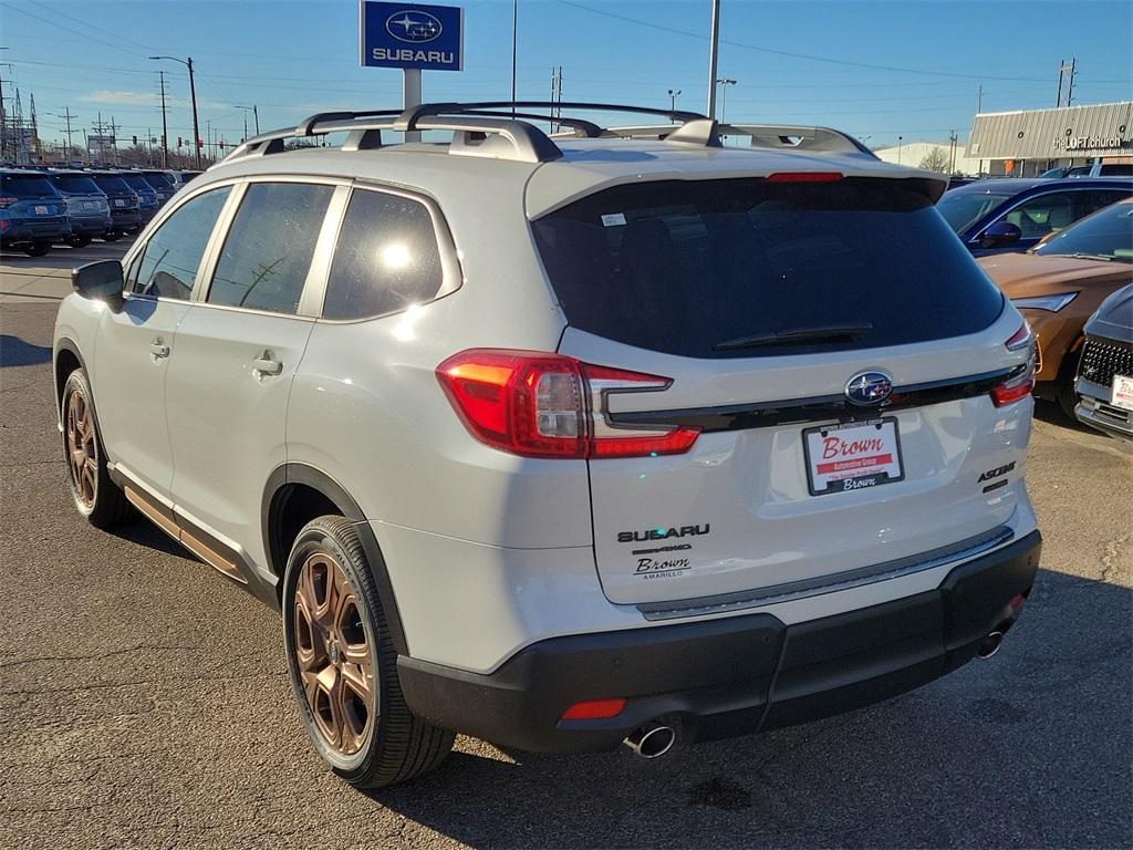
[[(533, 110), (540, 110), (539, 112)], [(542, 113), (546, 110), (546, 113)], [(572, 116), (574, 112), (617, 112), (659, 116), (673, 124), (633, 127), (603, 127)], [(569, 133), (548, 136), (530, 121), (547, 121), (569, 127)], [(377, 109), (359, 112), (318, 112), (293, 129), (273, 130), (241, 143), (225, 159), (281, 153), (287, 139), (309, 138), (330, 133), (347, 133), (343, 151), (382, 147), (382, 130), (449, 130), (453, 134), (449, 153), (513, 159), (522, 162), (550, 162), (562, 156), (553, 138), (622, 137), (657, 138), (674, 145), (719, 147), (721, 135), (747, 135), (757, 147), (789, 147), (816, 152), (874, 154), (858, 139), (826, 127), (780, 125), (717, 125), (699, 112), (654, 109), (613, 103), (554, 101), (479, 101), (474, 103), (423, 103), (409, 109)]]

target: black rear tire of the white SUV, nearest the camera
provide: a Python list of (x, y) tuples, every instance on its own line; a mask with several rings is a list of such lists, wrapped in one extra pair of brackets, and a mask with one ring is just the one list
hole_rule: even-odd
[[(372, 681), (369, 690), (372, 694), (372, 709), (364, 732), (351, 739), (351, 743), (357, 743), (357, 749), (349, 751), (349, 747), (340, 747), (332, 741), (323, 731), (324, 725), (332, 722), (324, 712), (320, 722), (316, 722), (315, 709), (308, 700), (307, 691), (304, 687), (303, 672), (300, 671), (299, 648), (303, 646), (314, 647), (322, 640), (323, 631), (317, 631), (314, 624), (315, 618), (304, 614), (297, 606), (297, 600), (309, 590), (314, 590), (315, 583), (309, 587), (304, 586), (300, 590), (300, 578), (304, 566), (316, 561), (329, 559), (338, 564), (349, 583), (346, 598), (356, 603), (353, 613), (357, 613), (357, 622), (351, 613), (353, 628), (359, 626), (365, 632), (366, 652), (369, 657), (369, 671)], [(322, 585), (326, 595), (326, 610), (332, 606), (331, 594), (327, 589), (333, 584), (332, 579), (325, 579)], [(317, 590), (315, 590), (317, 594)], [(335, 596), (335, 598), (342, 598)], [(343, 605), (343, 609), (348, 605)], [(321, 627), (320, 627), (321, 628)], [(330, 634), (330, 632), (327, 632)], [(356, 632), (357, 634), (357, 632)], [(409, 711), (404, 697), (401, 694), (401, 683), (398, 680), (397, 661), (398, 654), (390, 639), (390, 628), (385, 619), (377, 594), (377, 586), (374, 581), (373, 572), (366, 559), (361, 541), (353, 529), (353, 524), (342, 517), (320, 517), (308, 522), (291, 547), (288, 558), (287, 572), (283, 577), (283, 639), (287, 651), (288, 673), (291, 680), (291, 691), (299, 705), (299, 717), (315, 749), (330, 765), (331, 770), (341, 779), (352, 785), (360, 788), (385, 788), (400, 782), (407, 782), (424, 773), (435, 768), (452, 749), (453, 733), (437, 729), (425, 723)], [(326, 653), (324, 654), (324, 668), (338, 657), (338, 649), (332, 649), (331, 644), (335, 639), (325, 641)], [(342, 639), (342, 645), (348, 641)], [(352, 641), (357, 644), (357, 641)], [(309, 651), (308, 651), (309, 652)], [(322, 652), (316, 651), (316, 652)], [(356, 649), (356, 652), (358, 652)], [(315, 657), (310, 655), (310, 657)], [(347, 657), (342, 651), (343, 660)], [(324, 662), (315, 662), (315, 664)], [(334, 661), (337, 664), (338, 661)], [(350, 666), (346, 661), (343, 666)], [(358, 668), (355, 666), (355, 678)], [(312, 668), (307, 670), (308, 682), (312, 681)], [(342, 675), (340, 672), (338, 675)], [(338, 682), (338, 679), (335, 679)], [(342, 685), (339, 683), (341, 688)], [(312, 688), (317, 696), (313, 697), (316, 703), (323, 699), (330, 711), (333, 697), (330, 692), (317, 691)], [(359, 700), (356, 698), (355, 704)], [(340, 708), (340, 711), (342, 711)], [(357, 716), (355, 713), (353, 716)]]

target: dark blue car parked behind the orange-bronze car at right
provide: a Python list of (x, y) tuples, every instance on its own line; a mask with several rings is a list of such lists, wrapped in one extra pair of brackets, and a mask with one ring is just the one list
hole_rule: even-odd
[(1033, 248), (1092, 212), (1133, 195), (1127, 177), (996, 178), (947, 192), (936, 209), (976, 256)]

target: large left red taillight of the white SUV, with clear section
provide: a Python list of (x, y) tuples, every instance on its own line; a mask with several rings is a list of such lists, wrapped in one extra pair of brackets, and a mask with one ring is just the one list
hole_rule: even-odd
[(676, 454), (697, 428), (613, 428), (610, 392), (664, 389), (671, 381), (591, 366), (557, 354), (470, 349), (436, 368), (465, 426), (478, 440), (529, 458), (631, 458)]

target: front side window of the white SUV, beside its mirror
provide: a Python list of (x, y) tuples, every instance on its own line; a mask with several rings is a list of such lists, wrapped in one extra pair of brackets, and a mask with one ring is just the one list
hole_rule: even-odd
[[(208, 237), (231, 187), (206, 192), (177, 210), (146, 243), (133, 289), (142, 295), (188, 300)], [(134, 267), (130, 269), (130, 274)]]

